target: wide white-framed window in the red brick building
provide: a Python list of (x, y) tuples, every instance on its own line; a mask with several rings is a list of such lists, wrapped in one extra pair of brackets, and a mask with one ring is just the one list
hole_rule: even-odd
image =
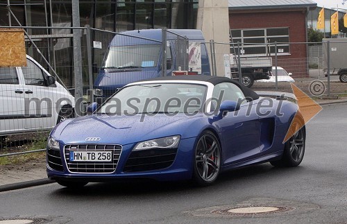
[(242, 55), (274, 55), (277, 42), (279, 55), (289, 54), (289, 28), (261, 28), (230, 31), (234, 47), (230, 53), (238, 54), (237, 42), (240, 42)]

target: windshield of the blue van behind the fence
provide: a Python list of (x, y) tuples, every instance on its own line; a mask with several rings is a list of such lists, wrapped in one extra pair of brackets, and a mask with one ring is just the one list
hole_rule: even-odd
[(160, 44), (110, 46), (103, 69), (156, 67)]

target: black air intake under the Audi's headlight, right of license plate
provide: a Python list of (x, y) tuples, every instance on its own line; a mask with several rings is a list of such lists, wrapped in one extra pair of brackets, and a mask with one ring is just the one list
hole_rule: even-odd
[(165, 169), (174, 162), (177, 148), (153, 148), (130, 153), (124, 172)]

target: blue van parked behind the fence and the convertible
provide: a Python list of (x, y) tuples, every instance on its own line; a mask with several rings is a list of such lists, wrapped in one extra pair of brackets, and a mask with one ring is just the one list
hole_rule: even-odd
[[(189, 71), (210, 76), (210, 63), (203, 33), (199, 30), (168, 31), (166, 76), (171, 76), (172, 71), (187, 63), (183, 60), (185, 56), (189, 59)], [(180, 38), (174, 35), (175, 33)], [(186, 40), (182, 37), (189, 40), (189, 52), (182, 47), (182, 41)], [(115, 35), (94, 82), (94, 96), (104, 100), (128, 83), (162, 76), (163, 56), (161, 29), (125, 31)], [(190, 63), (195, 63), (196, 60), (200, 61), (197, 66)]]

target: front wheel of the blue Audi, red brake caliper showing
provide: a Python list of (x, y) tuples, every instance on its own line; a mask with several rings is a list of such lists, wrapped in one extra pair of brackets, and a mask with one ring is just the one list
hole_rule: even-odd
[(221, 146), (213, 132), (206, 130), (198, 138), (193, 166), (193, 180), (199, 186), (208, 186), (217, 180), (221, 167)]

